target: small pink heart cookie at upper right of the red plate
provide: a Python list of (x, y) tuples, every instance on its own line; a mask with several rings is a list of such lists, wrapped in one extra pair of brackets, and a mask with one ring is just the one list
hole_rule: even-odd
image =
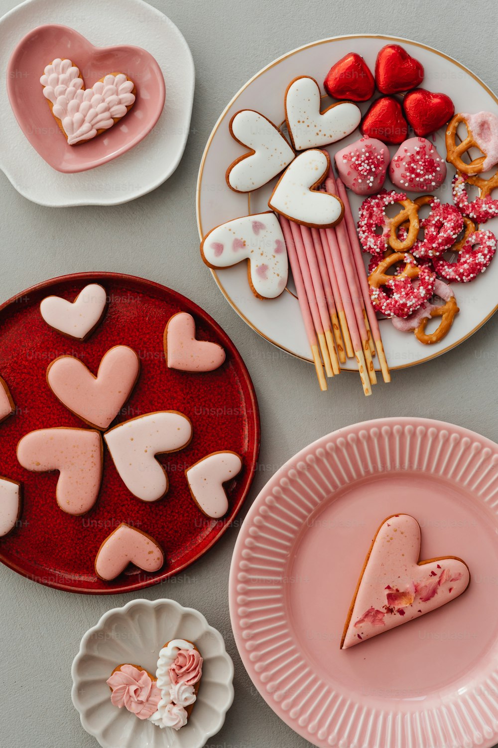
[(191, 314), (174, 314), (164, 331), (164, 352), (169, 369), (183, 372), (211, 372), (225, 361), (218, 343), (197, 340), (196, 322)]

